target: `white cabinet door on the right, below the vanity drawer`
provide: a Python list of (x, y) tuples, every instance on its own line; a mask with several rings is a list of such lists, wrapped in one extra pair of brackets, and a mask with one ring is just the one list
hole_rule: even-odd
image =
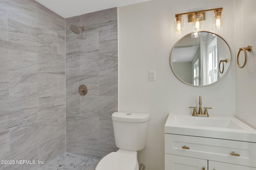
[(209, 170), (256, 170), (249, 166), (242, 166), (236, 164), (228, 164), (224, 162), (216, 162), (209, 160), (208, 162)]

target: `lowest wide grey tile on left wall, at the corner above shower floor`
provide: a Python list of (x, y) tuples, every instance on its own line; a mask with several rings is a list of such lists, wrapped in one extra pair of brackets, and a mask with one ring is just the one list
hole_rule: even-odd
[[(38, 146), (39, 160), (44, 161), (44, 164), (51, 162), (54, 158), (60, 156), (66, 151), (65, 135), (60, 135), (54, 139), (46, 141)], [(40, 164), (39, 166), (43, 166)]]

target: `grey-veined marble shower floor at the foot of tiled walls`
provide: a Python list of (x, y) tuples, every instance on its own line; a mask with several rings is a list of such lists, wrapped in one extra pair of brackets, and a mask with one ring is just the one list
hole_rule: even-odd
[(64, 153), (38, 170), (95, 170), (98, 160)]

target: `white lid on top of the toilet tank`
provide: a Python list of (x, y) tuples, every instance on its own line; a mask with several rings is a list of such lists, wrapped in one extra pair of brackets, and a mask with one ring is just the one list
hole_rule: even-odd
[(130, 123), (142, 123), (148, 121), (149, 118), (150, 115), (146, 113), (114, 112), (112, 114), (112, 120)]

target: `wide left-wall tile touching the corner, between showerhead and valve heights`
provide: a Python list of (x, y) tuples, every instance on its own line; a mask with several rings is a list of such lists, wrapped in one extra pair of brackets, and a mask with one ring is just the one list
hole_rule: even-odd
[(65, 74), (65, 56), (38, 50), (38, 73)]

